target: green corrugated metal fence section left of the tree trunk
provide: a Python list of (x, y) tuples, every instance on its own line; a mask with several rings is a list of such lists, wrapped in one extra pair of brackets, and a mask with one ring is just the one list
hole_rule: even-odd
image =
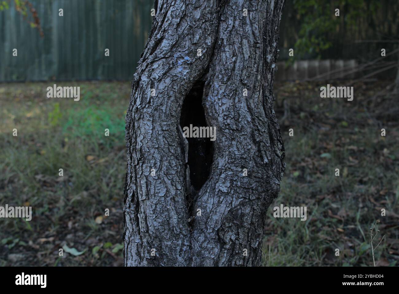
[[(13, 1), (0, 12), (1, 82), (132, 79), (151, 30), (152, 1), (30, 2), (44, 37), (16, 12)], [(58, 15), (60, 8), (64, 16)], [(106, 48), (110, 56), (105, 56)]]

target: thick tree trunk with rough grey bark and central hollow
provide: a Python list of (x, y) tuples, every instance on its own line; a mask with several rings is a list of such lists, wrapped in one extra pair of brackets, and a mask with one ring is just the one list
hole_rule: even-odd
[[(155, 1), (126, 114), (125, 266), (261, 264), (285, 167), (273, 110), (283, 2)], [(205, 123), (215, 141), (184, 138)]]

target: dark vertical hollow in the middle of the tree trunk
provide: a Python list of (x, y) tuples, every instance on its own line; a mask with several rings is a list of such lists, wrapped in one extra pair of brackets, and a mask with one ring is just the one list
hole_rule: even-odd
[[(202, 94), (205, 82), (197, 81), (184, 98), (180, 126), (206, 127), (205, 112), (202, 107)], [(212, 165), (213, 146), (210, 138), (190, 138), (188, 141), (188, 166), (190, 167), (191, 194), (195, 196), (206, 182)], [(194, 189), (194, 190), (193, 190)]]

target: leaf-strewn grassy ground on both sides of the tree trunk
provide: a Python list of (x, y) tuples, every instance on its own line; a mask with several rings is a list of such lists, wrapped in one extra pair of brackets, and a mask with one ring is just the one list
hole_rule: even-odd
[[(80, 101), (46, 98), (48, 83), (0, 84), (0, 205), (34, 208), (31, 222), (0, 220), (0, 265), (120, 266), (130, 83), (57, 85), (80, 86)], [(380, 219), (376, 229), (386, 236), (374, 252), (376, 265), (397, 266), (395, 100), (370, 99), (384, 83), (356, 84), (352, 102), (322, 99), (319, 86), (275, 86), (287, 166), (267, 212), (263, 264), (371, 266), (369, 228)], [(274, 218), (280, 204), (306, 206), (306, 221)]]

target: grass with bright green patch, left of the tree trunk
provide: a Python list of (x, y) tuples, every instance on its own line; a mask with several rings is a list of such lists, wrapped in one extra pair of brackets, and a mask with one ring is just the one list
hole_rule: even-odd
[[(122, 264), (128, 84), (74, 84), (81, 87), (78, 102), (45, 98), (42, 83), (0, 87), (0, 203), (34, 207), (32, 222), (0, 222), (1, 265)], [(59, 259), (65, 245), (86, 251)]]

